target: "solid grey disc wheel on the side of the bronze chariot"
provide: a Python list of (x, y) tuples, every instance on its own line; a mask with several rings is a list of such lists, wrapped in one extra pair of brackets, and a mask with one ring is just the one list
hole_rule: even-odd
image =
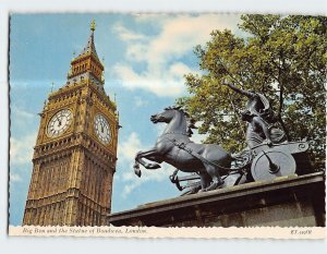
[(251, 173), (255, 181), (272, 180), (295, 173), (296, 164), (292, 155), (279, 150), (259, 153), (253, 160)]

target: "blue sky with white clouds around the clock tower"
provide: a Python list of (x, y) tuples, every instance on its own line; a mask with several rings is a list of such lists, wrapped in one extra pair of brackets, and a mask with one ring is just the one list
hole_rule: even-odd
[[(149, 116), (186, 95), (183, 75), (199, 72), (193, 49), (213, 29), (239, 33), (231, 14), (12, 14), (10, 27), (10, 225), (21, 225), (32, 174), (39, 113), (50, 89), (65, 83), (96, 21), (95, 43), (105, 58), (105, 89), (117, 98), (120, 123), (112, 211), (178, 196), (172, 168), (133, 173), (137, 150), (150, 148), (164, 125)], [(194, 141), (202, 137), (194, 135)]]

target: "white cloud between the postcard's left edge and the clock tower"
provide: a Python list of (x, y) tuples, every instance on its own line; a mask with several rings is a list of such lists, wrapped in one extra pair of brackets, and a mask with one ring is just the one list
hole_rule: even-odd
[(31, 162), (33, 147), (36, 141), (36, 132), (23, 138), (10, 137), (10, 161), (11, 165), (23, 165)]

